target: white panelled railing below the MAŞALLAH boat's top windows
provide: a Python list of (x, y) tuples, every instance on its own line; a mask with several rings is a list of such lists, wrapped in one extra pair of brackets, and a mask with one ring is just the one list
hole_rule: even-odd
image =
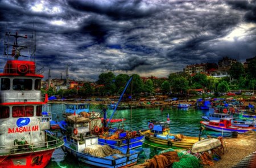
[(44, 102), (46, 93), (0, 93), (0, 102)]

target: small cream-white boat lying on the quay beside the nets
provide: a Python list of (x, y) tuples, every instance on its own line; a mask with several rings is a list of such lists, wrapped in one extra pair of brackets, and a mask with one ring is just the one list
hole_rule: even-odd
[(219, 145), (221, 145), (221, 141), (218, 139), (214, 139), (214, 138), (204, 139), (193, 144), (191, 152), (192, 153), (205, 152), (210, 149), (216, 148)]

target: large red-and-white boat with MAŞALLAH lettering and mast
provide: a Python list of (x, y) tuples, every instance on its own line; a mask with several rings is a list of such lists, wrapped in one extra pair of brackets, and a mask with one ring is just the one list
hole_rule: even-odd
[(48, 100), (40, 91), (43, 75), (31, 61), (34, 55), (22, 55), (28, 45), (18, 45), (18, 38), (27, 36), (6, 33), (4, 55), (13, 60), (0, 70), (0, 167), (46, 167), (64, 140), (46, 131), (50, 121), (42, 114)]

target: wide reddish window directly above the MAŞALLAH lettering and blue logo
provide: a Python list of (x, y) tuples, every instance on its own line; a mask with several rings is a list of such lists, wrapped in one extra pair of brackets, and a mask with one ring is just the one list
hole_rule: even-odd
[(34, 106), (13, 106), (13, 117), (33, 117)]

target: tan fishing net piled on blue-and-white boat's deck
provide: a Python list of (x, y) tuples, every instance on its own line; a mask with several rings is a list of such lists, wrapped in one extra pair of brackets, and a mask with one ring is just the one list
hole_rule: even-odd
[(122, 154), (120, 150), (110, 148), (109, 145), (91, 145), (84, 149), (84, 153), (88, 153), (92, 156), (106, 157), (112, 154)]

